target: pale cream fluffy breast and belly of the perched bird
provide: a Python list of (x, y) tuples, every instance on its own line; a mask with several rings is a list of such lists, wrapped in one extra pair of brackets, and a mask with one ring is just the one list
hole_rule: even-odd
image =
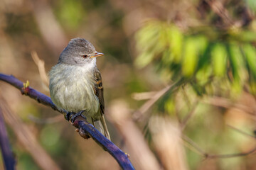
[(58, 108), (75, 113), (85, 110), (92, 116), (100, 105), (94, 81), (92, 69), (57, 64), (50, 71), (50, 97)]

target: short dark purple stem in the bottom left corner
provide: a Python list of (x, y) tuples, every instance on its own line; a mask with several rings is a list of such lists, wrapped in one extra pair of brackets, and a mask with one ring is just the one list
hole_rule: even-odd
[(15, 169), (16, 160), (14, 154), (11, 152), (11, 145), (8, 139), (6, 127), (4, 125), (4, 116), (0, 108), (0, 147), (2, 157), (4, 158), (5, 169)]

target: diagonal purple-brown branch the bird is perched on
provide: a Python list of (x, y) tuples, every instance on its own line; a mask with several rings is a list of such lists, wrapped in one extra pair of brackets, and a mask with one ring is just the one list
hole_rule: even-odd
[[(66, 111), (60, 111), (55, 106), (53, 101), (51, 101), (50, 97), (46, 96), (45, 94), (42, 94), (39, 91), (36, 91), (35, 89), (32, 89), (31, 87), (25, 87), (23, 85), (23, 82), (16, 79), (14, 76), (1, 74), (0, 73), (0, 80), (5, 81), (8, 84), (11, 84), (12, 86), (15, 86), (17, 89), (21, 91), (21, 94), (24, 94), (26, 96), (29, 96), (38, 103), (42, 103), (45, 106), (49, 106), (53, 108), (53, 110), (58, 111), (60, 113), (67, 113)], [(88, 123), (85, 119), (81, 118), (80, 116), (75, 120), (73, 125), (78, 128), (79, 134), (86, 138), (87, 136), (92, 137), (95, 142), (97, 142), (98, 145), (100, 145), (103, 149), (107, 150), (114, 159), (117, 160), (119, 166), (122, 167), (122, 169), (134, 169), (132, 166), (132, 163), (129, 161), (129, 158), (127, 157), (127, 154), (122, 152), (121, 149), (119, 149), (116, 145), (114, 145), (113, 142), (110, 140), (107, 140), (107, 138), (102, 135), (98, 130), (96, 130), (90, 123)]]

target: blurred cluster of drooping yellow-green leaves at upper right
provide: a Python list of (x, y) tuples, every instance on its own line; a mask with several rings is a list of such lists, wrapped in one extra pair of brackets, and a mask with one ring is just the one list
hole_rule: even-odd
[(136, 35), (135, 64), (141, 68), (154, 63), (160, 74), (171, 75), (168, 79), (186, 79), (198, 95), (208, 93), (215, 79), (227, 79), (233, 94), (240, 94), (245, 84), (255, 93), (255, 36), (236, 28), (183, 33), (173, 24), (149, 21)]

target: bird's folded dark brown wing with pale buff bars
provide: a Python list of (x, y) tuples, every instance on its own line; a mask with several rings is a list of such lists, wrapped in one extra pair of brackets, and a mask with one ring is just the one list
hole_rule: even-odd
[(102, 86), (102, 78), (100, 75), (100, 70), (95, 69), (94, 72), (95, 77), (95, 95), (99, 98), (100, 101), (100, 113), (105, 113), (105, 103), (104, 103), (104, 96), (103, 96), (103, 86)]

